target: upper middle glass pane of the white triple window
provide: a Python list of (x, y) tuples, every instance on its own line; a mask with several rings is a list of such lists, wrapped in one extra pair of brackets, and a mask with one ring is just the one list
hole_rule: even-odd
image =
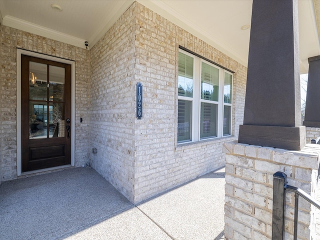
[(201, 99), (218, 101), (219, 69), (202, 62), (201, 64)]

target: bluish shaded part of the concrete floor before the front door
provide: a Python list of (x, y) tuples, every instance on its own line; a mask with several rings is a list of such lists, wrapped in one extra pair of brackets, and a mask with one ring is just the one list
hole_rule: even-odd
[(134, 207), (92, 168), (0, 185), (1, 239), (63, 239)]

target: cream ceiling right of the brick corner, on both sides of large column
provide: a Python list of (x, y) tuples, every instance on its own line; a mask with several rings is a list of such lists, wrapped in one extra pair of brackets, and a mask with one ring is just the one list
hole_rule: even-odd
[[(250, 29), (240, 27), (251, 23), (252, 0), (137, 1), (247, 66)], [(298, 0), (298, 13), (300, 72), (306, 73), (307, 58), (320, 53), (312, 0)]]

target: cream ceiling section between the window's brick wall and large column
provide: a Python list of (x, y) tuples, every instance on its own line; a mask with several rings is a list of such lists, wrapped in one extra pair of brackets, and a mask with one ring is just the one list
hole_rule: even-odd
[(251, 23), (252, 0), (137, 1), (247, 65), (250, 28), (241, 30), (240, 27)]

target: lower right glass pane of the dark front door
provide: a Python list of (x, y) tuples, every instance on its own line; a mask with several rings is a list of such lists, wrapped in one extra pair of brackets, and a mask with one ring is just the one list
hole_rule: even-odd
[(49, 137), (64, 137), (64, 104), (52, 103), (49, 105)]

